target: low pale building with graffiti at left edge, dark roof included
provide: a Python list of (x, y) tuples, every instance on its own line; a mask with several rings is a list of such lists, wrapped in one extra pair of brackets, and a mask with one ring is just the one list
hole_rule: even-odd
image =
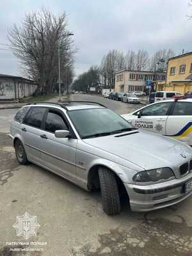
[(36, 83), (33, 80), (0, 74), (0, 100), (28, 97), (35, 90)]

